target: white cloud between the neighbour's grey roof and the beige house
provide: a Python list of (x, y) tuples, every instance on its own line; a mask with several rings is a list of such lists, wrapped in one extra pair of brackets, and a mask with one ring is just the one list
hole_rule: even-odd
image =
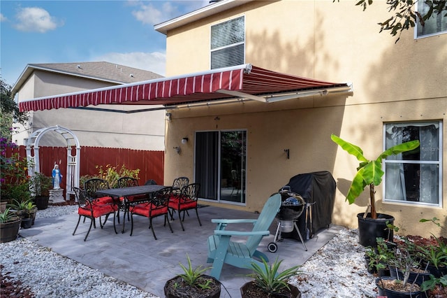
[(161, 76), (166, 73), (166, 54), (162, 52), (109, 52), (94, 58), (92, 61), (105, 61), (152, 71)]

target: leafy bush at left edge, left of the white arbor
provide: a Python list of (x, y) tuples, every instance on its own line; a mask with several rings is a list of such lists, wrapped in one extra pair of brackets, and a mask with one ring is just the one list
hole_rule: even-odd
[(8, 148), (17, 148), (17, 145), (7, 138), (0, 137), (0, 189), (1, 201), (11, 204), (15, 201), (28, 201), (31, 199), (29, 190), (30, 177), (26, 157), (18, 153), (8, 155)]

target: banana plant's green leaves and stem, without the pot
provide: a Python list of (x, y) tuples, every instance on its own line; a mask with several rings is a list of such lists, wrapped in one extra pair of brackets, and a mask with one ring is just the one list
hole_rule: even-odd
[(337, 143), (343, 150), (348, 152), (351, 155), (354, 155), (360, 164), (357, 168), (356, 176), (354, 176), (351, 187), (349, 187), (348, 195), (346, 196), (346, 201), (349, 201), (349, 204), (353, 204), (356, 201), (357, 197), (362, 194), (365, 190), (365, 187), (369, 185), (369, 201), (371, 206), (371, 218), (376, 219), (376, 197), (374, 186), (380, 185), (382, 182), (383, 170), (382, 170), (382, 159), (390, 155), (397, 155), (402, 152), (408, 152), (414, 150), (419, 147), (419, 141), (409, 141), (406, 143), (402, 143), (387, 150), (383, 151), (379, 157), (376, 159), (369, 160), (363, 155), (363, 150), (353, 145), (349, 142), (340, 139), (335, 134), (330, 136), (330, 139)]

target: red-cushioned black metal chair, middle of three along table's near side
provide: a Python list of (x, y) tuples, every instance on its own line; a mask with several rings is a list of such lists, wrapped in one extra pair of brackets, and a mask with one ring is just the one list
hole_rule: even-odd
[(147, 203), (137, 204), (131, 206), (129, 208), (129, 212), (131, 213), (131, 236), (133, 234), (133, 215), (141, 215), (149, 218), (149, 227), (152, 230), (152, 234), (154, 235), (154, 239), (156, 240), (154, 225), (152, 224), (152, 218), (156, 218), (158, 216), (164, 215), (166, 227), (166, 222), (168, 222), (170, 232), (173, 233), (173, 228), (170, 226), (169, 218), (168, 218), (168, 201), (170, 195), (173, 191), (173, 187), (164, 187), (161, 190), (154, 193), (152, 199)]

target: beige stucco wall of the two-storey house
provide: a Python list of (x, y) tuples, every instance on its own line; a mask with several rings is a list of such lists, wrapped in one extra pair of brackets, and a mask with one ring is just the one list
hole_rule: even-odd
[[(447, 34), (400, 41), (379, 34), (386, 20), (383, 1), (366, 11), (356, 1), (251, 1), (186, 24), (167, 34), (167, 76), (210, 69), (210, 25), (245, 16), (245, 62), (332, 82), (352, 82), (353, 92), (291, 99), (272, 104), (246, 102), (170, 111), (166, 122), (165, 181), (193, 178), (194, 134), (216, 129), (247, 129), (247, 204), (228, 208), (260, 211), (272, 192), (298, 173), (330, 171), (337, 181), (332, 223), (357, 227), (368, 193), (349, 205), (345, 196), (358, 162), (337, 148), (337, 134), (375, 158), (383, 151), (386, 122), (443, 122), (443, 162), (447, 169)], [(185, 59), (188, 57), (188, 59)], [(218, 116), (218, 120), (215, 119)], [(189, 142), (182, 144), (187, 136)], [(173, 147), (180, 146), (177, 155)], [(284, 149), (290, 148), (290, 159)], [(442, 178), (442, 208), (383, 203), (380, 213), (395, 217), (402, 234), (440, 234), (439, 227), (418, 223), (441, 219), (447, 227), (447, 175)], [(207, 204), (216, 204), (208, 202)], [(444, 232), (446, 236), (446, 232)]]

